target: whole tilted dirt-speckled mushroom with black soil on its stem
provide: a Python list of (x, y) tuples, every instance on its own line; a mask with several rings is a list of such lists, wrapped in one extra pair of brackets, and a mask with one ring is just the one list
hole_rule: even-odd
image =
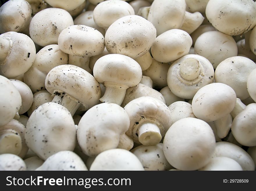
[(71, 116), (81, 105), (85, 110), (95, 106), (101, 96), (95, 78), (74, 65), (59, 65), (51, 69), (45, 78), (45, 88), (54, 94), (52, 102), (66, 107)]

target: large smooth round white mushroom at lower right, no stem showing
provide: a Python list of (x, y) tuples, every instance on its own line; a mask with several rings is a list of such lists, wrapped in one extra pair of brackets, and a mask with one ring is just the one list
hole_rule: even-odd
[(197, 170), (211, 159), (215, 138), (211, 127), (203, 120), (186, 117), (175, 122), (163, 139), (163, 153), (173, 167)]

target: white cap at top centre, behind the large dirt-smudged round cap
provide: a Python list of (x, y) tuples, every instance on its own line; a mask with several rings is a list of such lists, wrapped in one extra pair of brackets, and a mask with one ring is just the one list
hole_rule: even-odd
[(120, 0), (107, 0), (97, 4), (94, 8), (93, 19), (98, 26), (108, 28), (117, 19), (134, 14), (134, 9), (129, 3)]

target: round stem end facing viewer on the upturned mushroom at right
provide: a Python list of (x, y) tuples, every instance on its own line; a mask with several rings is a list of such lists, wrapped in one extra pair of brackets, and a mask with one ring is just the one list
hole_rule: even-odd
[(187, 81), (195, 80), (200, 74), (200, 64), (198, 60), (194, 58), (187, 58), (182, 61), (179, 65), (179, 69), (180, 76)]

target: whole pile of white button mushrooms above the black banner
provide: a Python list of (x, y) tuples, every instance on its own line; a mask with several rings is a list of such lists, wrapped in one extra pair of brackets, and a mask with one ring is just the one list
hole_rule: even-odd
[(255, 170), (253, 0), (10, 0), (0, 170)]

